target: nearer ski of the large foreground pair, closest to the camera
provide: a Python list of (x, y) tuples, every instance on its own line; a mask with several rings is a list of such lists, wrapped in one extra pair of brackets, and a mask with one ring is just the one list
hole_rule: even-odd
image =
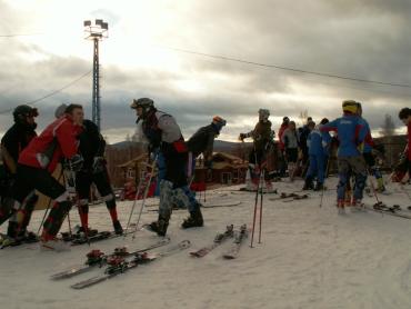
[(139, 252), (136, 253), (132, 259), (124, 259), (123, 257), (112, 257), (108, 260), (108, 267), (104, 271), (104, 275), (92, 277), (90, 279), (77, 282), (71, 286), (72, 289), (84, 289), (97, 283), (103, 282), (111, 278), (114, 278), (118, 275), (124, 273), (128, 270), (136, 268), (140, 265), (152, 262), (159, 258), (171, 256), (172, 253), (177, 253), (179, 251), (186, 250), (190, 248), (191, 242), (189, 240), (183, 240), (170, 248), (166, 249), (160, 253), (148, 255), (147, 252)]

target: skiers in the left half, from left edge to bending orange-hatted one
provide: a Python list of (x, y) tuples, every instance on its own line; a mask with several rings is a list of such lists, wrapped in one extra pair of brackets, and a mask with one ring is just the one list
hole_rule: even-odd
[[(193, 169), (196, 157), (203, 153), (206, 165), (211, 168), (213, 141), (225, 126), (225, 120), (214, 117), (211, 124), (200, 128), (186, 143), (174, 118), (157, 110), (151, 99), (133, 100), (131, 108), (137, 111), (137, 122), (142, 122), (149, 152), (159, 170), (159, 219), (150, 225), (151, 229), (164, 236), (176, 206), (187, 208), (190, 213), (182, 228), (202, 227), (200, 205), (189, 188), (188, 162), (191, 158), (190, 167)], [(53, 202), (40, 236), (43, 248), (63, 249), (66, 245), (57, 235), (74, 203), (81, 222), (78, 232), (92, 236), (97, 232), (89, 228), (88, 222), (92, 183), (106, 201), (114, 232), (122, 235), (106, 167), (106, 141), (98, 127), (83, 119), (82, 106), (62, 104), (56, 110), (56, 120), (38, 136), (38, 116), (36, 108), (17, 107), (13, 111), (14, 123), (1, 140), (0, 225), (9, 220), (6, 241), (21, 243), (38, 240), (36, 233), (27, 230), (38, 201), (36, 190)], [(59, 177), (53, 177), (58, 163), (61, 163), (61, 172)]]

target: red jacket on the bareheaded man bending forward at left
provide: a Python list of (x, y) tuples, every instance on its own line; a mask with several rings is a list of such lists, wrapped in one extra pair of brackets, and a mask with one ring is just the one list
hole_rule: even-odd
[(71, 159), (77, 153), (77, 136), (80, 132), (81, 127), (76, 126), (68, 116), (57, 119), (31, 140), (21, 152), (19, 163), (52, 172), (62, 158)]

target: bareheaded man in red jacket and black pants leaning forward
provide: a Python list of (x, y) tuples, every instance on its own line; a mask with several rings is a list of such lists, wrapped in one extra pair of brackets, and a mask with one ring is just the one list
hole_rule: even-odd
[(18, 161), (12, 195), (16, 200), (14, 208), (19, 209), (27, 196), (34, 189), (56, 201), (43, 223), (41, 235), (43, 248), (66, 249), (56, 236), (72, 206), (69, 199), (70, 191), (51, 173), (61, 159), (67, 160), (71, 175), (81, 167), (82, 158), (77, 153), (77, 137), (81, 132), (82, 119), (82, 107), (70, 104), (64, 117), (54, 120), (40, 136), (32, 139), (21, 152)]

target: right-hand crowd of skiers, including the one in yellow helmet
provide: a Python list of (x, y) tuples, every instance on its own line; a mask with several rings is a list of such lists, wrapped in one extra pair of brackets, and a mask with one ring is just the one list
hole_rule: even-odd
[[(279, 130), (280, 153), (287, 162), (290, 181), (293, 181), (299, 168), (304, 178), (303, 190), (323, 190), (324, 178), (329, 170), (329, 158), (333, 146), (337, 146), (339, 213), (343, 213), (347, 206), (351, 206), (354, 210), (363, 209), (363, 189), (369, 175), (377, 180), (374, 190), (385, 191), (381, 171), (375, 162), (375, 157), (383, 156), (384, 149), (382, 144), (374, 143), (370, 126), (362, 117), (362, 104), (354, 100), (344, 100), (342, 113), (342, 117), (333, 121), (323, 118), (319, 124), (315, 124), (312, 118), (308, 118), (307, 123), (300, 129), (297, 129), (294, 121), (284, 117)], [(260, 109), (259, 122), (254, 130), (241, 133), (239, 137), (240, 140), (248, 137), (253, 138), (253, 150), (249, 158), (251, 175), (249, 189), (251, 190), (262, 188), (261, 173), (264, 175), (265, 190), (272, 190), (272, 177), (269, 177), (272, 171), (267, 167), (271, 156), (270, 151), (273, 149), (270, 144), (273, 142), (274, 131), (268, 120), (269, 114), (268, 110)], [(410, 109), (402, 109), (399, 118), (408, 126), (408, 144), (410, 144)], [(330, 131), (333, 132), (332, 137)], [(410, 152), (410, 147), (407, 147), (404, 161), (409, 175), (411, 171)], [(353, 188), (351, 188), (352, 178)], [(315, 185), (314, 180), (317, 180)]]

